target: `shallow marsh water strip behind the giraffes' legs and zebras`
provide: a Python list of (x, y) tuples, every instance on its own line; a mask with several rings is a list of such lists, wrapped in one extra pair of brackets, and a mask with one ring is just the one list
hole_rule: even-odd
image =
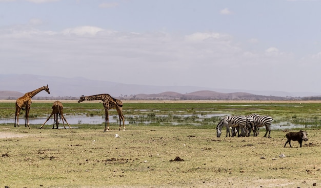
[[(171, 114), (171, 115), (125, 115), (125, 125), (139, 125), (139, 124), (155, 124), (159, 123), (160, 125), (194, 125), (194, 126), (202, 126), (204, 122), (207, 122), (207, 125), (213, 125), (213, 128), (216, 127), (217, 120), (222, 118), (227, 114)], [(67, 122), (70, 126), (76, 126), (81, 124), (90, 124), (90, 125), (99, 125), (105, 124), (105, 116), (88, 116), (88, 115), (65, 115)], [(30, 125), (42, 125), (47, 120), (47, 117), (30, 117), (29, 124)], [(214, 120), (214, 121), (213, 121)], [(216, 120), (216, 121), (215, 121)], [(14, 119), (0, 119), (0, 124), (13, 124)], [(49, 121), (46, 122), (45, 126), (53, 125), (53, 116), (50, 117)], [(117, 115), (109, 116), (109, 123), (111, 124), (119, 124), (119, 119)], [(19, 117), (19, 124), (25, 124), (25, 117)], [(65, 125), (67, 126), (66, 122)], [(60, 122), (60, 126), (62, 126), (62, 121)], [(271, 125), (272, 130), (276, 129), (291, 129), (291, 128), (307, 128), (312, 127), (313, 125), (299, 125), (293, 124), (289, 122), (274, 122)], [(263, 127), (265, 129), (265, 127)]]

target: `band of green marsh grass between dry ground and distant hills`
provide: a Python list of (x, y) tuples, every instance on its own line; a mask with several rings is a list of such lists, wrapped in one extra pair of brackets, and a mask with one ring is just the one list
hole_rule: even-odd
[[(102, 103), (64, 103), (65, 115), (85, 114), (87, 116), (105, 116)], [(51, 103), (32, 103), (30, 117), (47, 117), (51, 113)], [(259, 113), (270, 115), (274, 123), (288, 122), (295, 125), (321, 125), (320, 103), (126, 103), (124, 102), (125, 119), (131, 122), (151, 120), (151, 123), (166, 124), (172, 120), (183, 119), (183, 125), (199, 123), (196, 115), (225, 114), (242, 115)], [(14, 118), (14, 103), (0, 103), (0, 118)], [(25, 111), (21, 111), (24, 116)], [(182, 117), (181, 115), (194, 115)], [(110, 112), (110, 115), (116, 113)], [(133, 117), (135, 116), (135, 117)], [(194, 119), (193, 119), (194, 118)], [(218, 123), (219, 119), (208, 119), (202, 122), (208, 125)], [(199, 125), (203, 125), (202, 122)]]

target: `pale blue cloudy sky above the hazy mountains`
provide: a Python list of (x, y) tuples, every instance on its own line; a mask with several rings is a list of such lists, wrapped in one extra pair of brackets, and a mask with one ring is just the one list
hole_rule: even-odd
[(0, 0), (0, 74), (321, 92), (321, 0)]

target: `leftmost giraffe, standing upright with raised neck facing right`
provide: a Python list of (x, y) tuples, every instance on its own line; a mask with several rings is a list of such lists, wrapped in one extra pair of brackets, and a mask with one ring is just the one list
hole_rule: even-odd
[(45, 90), (50, 94), (49, 88), (48, 88), (48, 84), (47, 86), (42, 86), (41, 88), (38, 88), (36, 90), (30, 91), (25, 93), (24, 96), (22, 96), (21, 98), (18, 98), (15, 102), (15, 117), (14, 117), (14, 126), (15, 124), (15, 120), (17, 120), (17, 126), (19, 127), (19, 114), (21, 109), (23, 109), (23, 107), (26, 107), (26, 122), (25, 122), (25, 127), (29, 127), (29, 110), (30, 110), (30, 106), (31, 106), (31, 98), (35, 95), (37, 95), (38, 92)]

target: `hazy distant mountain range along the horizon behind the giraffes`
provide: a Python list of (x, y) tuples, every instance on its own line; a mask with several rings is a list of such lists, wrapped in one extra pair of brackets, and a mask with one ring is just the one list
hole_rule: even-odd
[(115, 98), (136, 100), (288, 100), (321, 96), (321, 93), (283, 91), (249, 91), (197, 86), (151, 86), (123, 84), (85, 78), (63, 78), (38, 75), (0, 75), (0, 99), (16, 99), (43, 85), (47, 92), (34, 99), (78, 99), (80, 96), (109, 93)]

